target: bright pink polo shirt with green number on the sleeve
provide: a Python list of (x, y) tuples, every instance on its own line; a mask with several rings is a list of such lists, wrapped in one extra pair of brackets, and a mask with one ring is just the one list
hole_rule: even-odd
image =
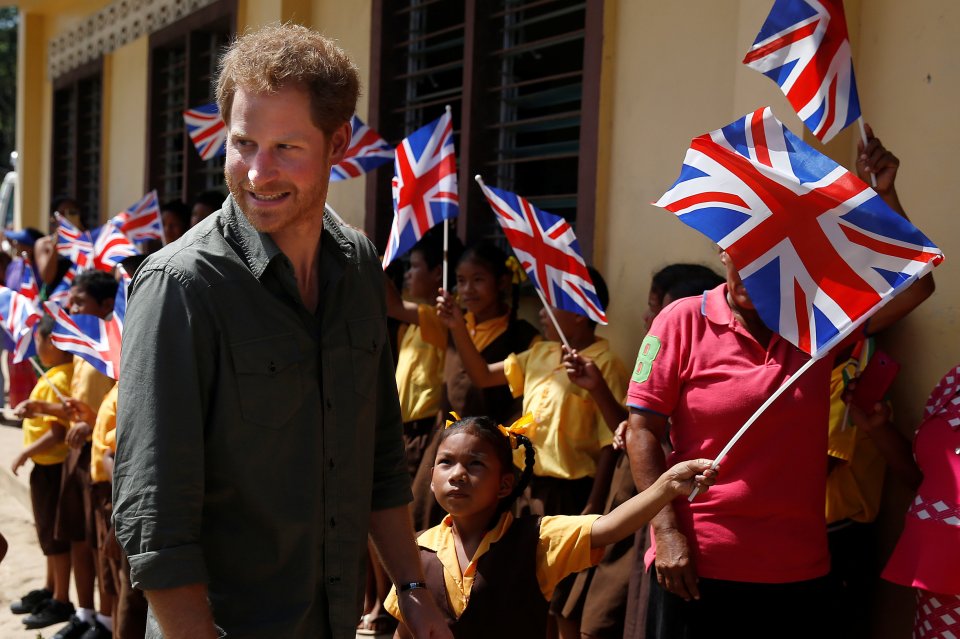
[[(627, 403), (670, 417), (668, 466), (715, 458), (809, 359), (776, 334), (761, 346), (734, 319), (726, 291), (722, 284), (671, 304), (640, 347)], [(706, 495), (673, 502), (700, 576), (786, 583), (829, 571), (823, 512), (831, 361), (814, 364), (767, 408)]]

